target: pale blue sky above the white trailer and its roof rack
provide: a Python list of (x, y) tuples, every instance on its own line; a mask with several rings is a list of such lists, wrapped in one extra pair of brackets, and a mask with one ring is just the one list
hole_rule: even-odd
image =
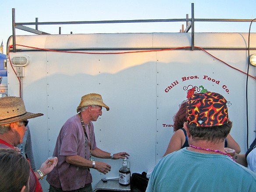
[[(195, 18), (254, 19), (256, 0), (1, 0), (0, 41), (4, 53), (12, 35), (12, 8), (16, 22), (103, 21), (134, 19), (191, 18), (194, 3)], [(39, 25), (39, 30), (58, 34), (179, 32), (185, 22), (139, 24)], [(195, 32), (248, 32), (249, 22), (196, 22)], [(29, 26), (34, 28), (34, 26)], [(251, 32), (256, 32), (256, 22)], [(32, 35), (16, 29), (16, 35)]]

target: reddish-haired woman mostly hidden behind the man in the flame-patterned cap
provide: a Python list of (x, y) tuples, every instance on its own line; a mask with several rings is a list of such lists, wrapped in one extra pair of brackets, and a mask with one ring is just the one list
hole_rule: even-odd
[[(166, 156), (169, 153), (188, 147), (188, 137), (185, 128), (183, 128), (184, 123), (187, 121), (187, 112), (186, 112), (186, 102), (181, 104), (178, 112), (174, 115), (174, 135), (172, 135), (169, 145), (164, 153)], [(231, 137), (230, 134), (225, 138), (224, 147), (235, 149), (236, 153), (241, 152), (241, 148), (238, 143)]]

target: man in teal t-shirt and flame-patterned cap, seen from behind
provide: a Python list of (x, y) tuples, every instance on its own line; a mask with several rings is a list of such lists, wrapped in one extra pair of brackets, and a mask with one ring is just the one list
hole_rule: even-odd
[(224, 152), (232, 123), (223, 96), (195, 93), (187, 103), (189, 147), (156, 164), (146, 192), (255, 192), (256, 174)]

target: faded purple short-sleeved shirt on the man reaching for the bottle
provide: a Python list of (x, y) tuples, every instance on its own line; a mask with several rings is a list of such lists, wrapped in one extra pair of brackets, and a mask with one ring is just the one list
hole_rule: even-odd
[[(92, 122), (91, 127), (91, 145), (92, 150), (96, 149), (96, 141)], [(88, 125), (85, 124), (85, 130), (90, 139)], [(53, 156), (58, 157), (58, 164), (54, 167), (46, 178), (46, 181), (54, 187), (62, 188), (64, 191), (83, 188), (85, 184), (92, 183), (92, 175), (89, 168), (78, 167), (68, 164), (65, 156), (79, 155), (85, 158), (85, 134), (81, 124), (79, 114), (70, 117), (60, 129)], [(86, 139), (86, 159), (90, 159), (89, 141)]]

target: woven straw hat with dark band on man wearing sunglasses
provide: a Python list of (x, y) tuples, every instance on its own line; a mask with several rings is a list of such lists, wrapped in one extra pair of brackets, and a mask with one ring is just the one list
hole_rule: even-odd
[(27, 112), (24, 101), (20, 97), (7, 96), (0, 98), (0, 124), (22, 121), (42, 115)]

